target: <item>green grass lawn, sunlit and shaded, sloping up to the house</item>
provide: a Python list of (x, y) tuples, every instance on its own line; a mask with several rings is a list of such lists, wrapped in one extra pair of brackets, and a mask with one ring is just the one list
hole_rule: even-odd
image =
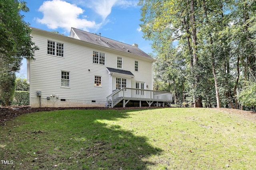
[(254, 122), (205, 108), (28, 113), (0, 126), (0, 169), (252, 170)]

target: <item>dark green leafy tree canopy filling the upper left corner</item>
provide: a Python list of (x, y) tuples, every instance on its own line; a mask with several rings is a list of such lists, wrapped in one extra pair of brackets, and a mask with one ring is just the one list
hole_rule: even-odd
[(26, 2), (0, 0), (0, 53), (6, 57), (33, 57), (38, 49), (30, 37), (31, 29), (20, 14), (28, 12)]

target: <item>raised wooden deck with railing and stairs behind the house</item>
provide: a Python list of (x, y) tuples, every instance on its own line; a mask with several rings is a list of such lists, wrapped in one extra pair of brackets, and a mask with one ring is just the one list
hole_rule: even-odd
[(142, 101), (146, 101), (148, 106), (151, 106), (153, 103), (156, 103), (156, 106), (158, 106), (158, 102), (162, 103), (163, 106), (165, 104), (171, 106), (172, 93), (136, 88), (122, 88), (107, 96), (106, 106), (114, 107), (118, 103), (122, 102), (123, 107), (125, 107), (130, 100), (139, 101), (140, 107)]

